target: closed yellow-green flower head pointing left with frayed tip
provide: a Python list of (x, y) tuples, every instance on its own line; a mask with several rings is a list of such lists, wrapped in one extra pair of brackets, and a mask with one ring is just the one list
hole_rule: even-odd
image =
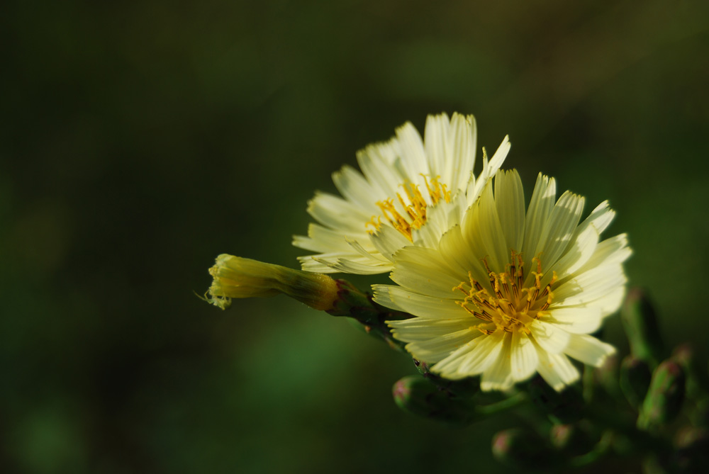
[(329, 310), (337, 298), (337, 283), (327, 275), (228, 254), (218, 256), (209, 273), (213, 281), (205, 299), (223, 310), (231, 298), (266, 298), (279, 293), (316, 310)]

